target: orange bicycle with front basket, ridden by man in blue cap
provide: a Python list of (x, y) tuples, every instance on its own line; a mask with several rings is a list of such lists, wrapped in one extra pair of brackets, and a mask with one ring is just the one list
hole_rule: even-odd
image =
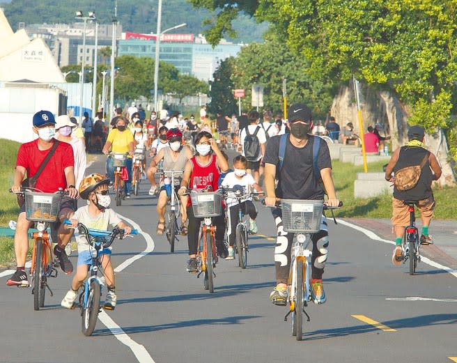
[[(33, 192), (35, 190), (35, 192)], [(57, 277), (57, 270), (54, 267), (54, 252), (52, 240), (56, 240), (56, 229), (54, 223), (59, 215), (62, 196), (64, 192), (60, 190), (56, 193), (36, 192), (35, 188), (26, 188), (18, 194), (23, 194), (25, 198), (26, 219), (35, 222), (36, 232), (31, 232), (33, 238), (33, 251), (29, 274), (30, 284), (18, 285), (20, 287), (32, 286), (33, 309), (40, 310), (45, 306), (46, 288), (51, 296), (54, 296), (51, 288), (47, 284), (49, 277)], [(10, 190), (10, 192), (12, 192)]]

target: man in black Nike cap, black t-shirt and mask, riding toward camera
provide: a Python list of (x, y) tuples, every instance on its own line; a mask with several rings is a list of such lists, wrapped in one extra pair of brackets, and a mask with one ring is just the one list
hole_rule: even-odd
[[(291, 133), (287, 136), (285, 157), (282, 166), (279, 164), (279, 144), (281, 137), (272, 137), (268, 141), (265, 153), (265, 203), (274, 206), (277, 197), (284, 199), (322, 200), (324, 190), (328, 194), (327, 204), (338, 206), (332, 179), (332, 162), (327, 143), (321, 142), (318, 150), (317, 168), (320, 176), (314, 175), (313, 143), (317, 137), (309, 134), (312, 130), (311, 110), (307, 105), (298, 103), (288, 109), (288, 127)], [(274, 180), (278, 184), (275, 188)], [(320, 178), (323, 186), (320, 185)], [(294, 233), (283, 230), (281, 210), (272, 210), (277, 225), (277, 245), (274, 249), (277, 286), (270, 294), (270, 300), (277, 305), (287, 302), (287, 278), (291, 265), (291, 247)], [(316, 304), (326, 301), (322, 286), (322, 275), (327, 261), (329, 238), (327, 222), (323, 216), (320, 232), (313, 234), (313, 253), (311, 259), (311, 297)]]

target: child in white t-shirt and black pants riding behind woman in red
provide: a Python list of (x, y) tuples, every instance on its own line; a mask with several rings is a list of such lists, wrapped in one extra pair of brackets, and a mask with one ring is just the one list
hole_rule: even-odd
[[(256, 192), (263, 192), (262, 188), (256, 183), (251, 174), (246, 173), (247, 159), (242, 155), (235, 156), (233, 159), (233, 170), (228, 173), (222, 187), (237, 188), (240, 187), (242, 194), (250, 192), (252, 189)], [(230, 197), (227, 198), (227, 216), (229, 217), (229, 223), (227, 224), (227, 236), (229, 237), (229, 256), (226, 260), (233, 260), (233, 244), (235, 243), (235, 229), (238, 224), (238, 199)], [(249, 215), (249, 233), (257, 233), (257, 210), (256, 206), (252, 202), (252, 196), (247, 196), (246, 199), (241, 201), (241, 208), (245, 214)]]

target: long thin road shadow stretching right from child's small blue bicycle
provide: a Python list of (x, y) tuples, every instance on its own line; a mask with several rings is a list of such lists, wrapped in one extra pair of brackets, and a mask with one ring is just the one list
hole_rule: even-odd
[[(167, 329), (176, 329), (180, 327), (196, 327), (198, 325), (233, 325), (233, 324), (242, 324), (243, 320), (261, 318), (260, 315), (247, 315), (247, 316), (229, 316), (226, 318), (219, 319), (196, 319), (196, 320), (185, 320), (178, 323), (169, 323), (169, 324), (160, 324), (160, 325), (140, 325), (136, 327), (122, 327), (122, 330), (126, 334), (137, 334), (144, 332), (157, 332), (159, 330)], [(118, 333), (121, 333), (119, 331)], [(102, 337), (105, 335), (113, 334), (108, 329), (96, 330), (92, 336), (93, 337)], [(116, 331), (114, 332), (116, 334)]]

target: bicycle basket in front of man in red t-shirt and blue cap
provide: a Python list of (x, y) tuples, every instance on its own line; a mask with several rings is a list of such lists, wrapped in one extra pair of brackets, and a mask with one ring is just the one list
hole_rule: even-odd
[(40, 193), (26, 190), (25, 215), (33, 222), (56, 222), (61, 209), (62, 194)]

